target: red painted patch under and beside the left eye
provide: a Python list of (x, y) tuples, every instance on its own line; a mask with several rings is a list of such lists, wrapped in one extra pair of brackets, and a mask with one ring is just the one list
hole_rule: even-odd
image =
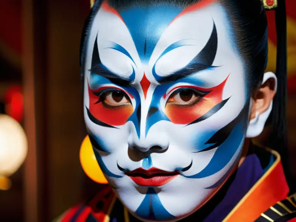
[[(116, 89), (115, 87), (108, 88)], [(94, 94), (96, 91), (92, 91), (89, 88), (89, 111), (91, 115), (111, 126), (124, 125), (133, 113), (133, 106), (131, 104), (125, 104), (118, 107), (106, 107), (102, 102), (97, 103), (99, 101), (99, 96)]]

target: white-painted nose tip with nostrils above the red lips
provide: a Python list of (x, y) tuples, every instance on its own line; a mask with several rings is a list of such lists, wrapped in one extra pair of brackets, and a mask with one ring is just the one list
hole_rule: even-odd
[(131, 133), (128, 137), (128, 146), (144, 153), (163, 152), (169, 146), (169, 139), (165, 133), (159, 131), (149, 132), (146, 138), (141, 139)]

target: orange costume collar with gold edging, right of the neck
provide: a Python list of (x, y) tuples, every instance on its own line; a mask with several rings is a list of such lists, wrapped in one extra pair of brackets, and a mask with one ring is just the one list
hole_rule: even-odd
[(287, 197), (289, 187), (284, 176), (281, 157), (278, 152), (265, 149), (271, 152), (276, 160), (222, 222), (253, 222), (270, 206)]

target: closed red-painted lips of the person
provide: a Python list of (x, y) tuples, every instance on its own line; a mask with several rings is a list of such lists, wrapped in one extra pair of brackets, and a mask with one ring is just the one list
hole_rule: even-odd
[(136, 184), (140, 186), (162, 186), (179, 175), (178, 171), (168, 172), (152, 167), (148, 170), (138, 168), (126, 172)]

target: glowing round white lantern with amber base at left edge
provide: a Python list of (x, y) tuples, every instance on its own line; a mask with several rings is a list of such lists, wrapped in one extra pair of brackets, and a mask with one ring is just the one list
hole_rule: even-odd
[(0, 189), (9, 189), (8, 177), (15, 173), (28, 153), (28, 141), (20, 123), (0, 115)]

